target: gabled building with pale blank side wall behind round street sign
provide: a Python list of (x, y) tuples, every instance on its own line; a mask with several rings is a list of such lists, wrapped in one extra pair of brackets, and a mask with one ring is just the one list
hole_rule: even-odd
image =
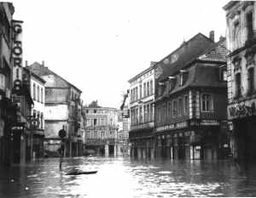
[[(45, 81), (44, 110), (44, 152), (47, 156), (57, 156), (61, 138), (59, 131), (64, 129), (64, 156), (79, 156), (83, 149), (83, 138), (80, 131), (81, 91), (70, 82), (50, 71), (38, 62), (28, 68)], [(37, 89), (37, 88), (36, 88)], [(40, 88), (39, 88), (40, 89)]]

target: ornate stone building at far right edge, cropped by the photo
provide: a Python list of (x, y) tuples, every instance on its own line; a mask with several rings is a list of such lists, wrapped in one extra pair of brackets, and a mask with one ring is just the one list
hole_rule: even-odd
[(231, 147), (238, 161), (256, 159), (256, 3), (232, 1), (224, 6), (227, 22), (228, 118)]

